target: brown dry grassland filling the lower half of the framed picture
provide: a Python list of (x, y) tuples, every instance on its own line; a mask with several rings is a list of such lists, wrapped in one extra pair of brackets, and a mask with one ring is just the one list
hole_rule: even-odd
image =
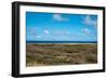
[(27, 44), (26, 66), (97, 63), (97, 44)]

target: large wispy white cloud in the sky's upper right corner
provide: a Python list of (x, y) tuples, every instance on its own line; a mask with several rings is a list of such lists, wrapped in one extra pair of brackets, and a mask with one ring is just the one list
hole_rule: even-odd
[(89, 26), (97, 26), (97, 21), (93, 19), (90, 15), (86, 15), (83, 17), (83, 24), (89, 25)]

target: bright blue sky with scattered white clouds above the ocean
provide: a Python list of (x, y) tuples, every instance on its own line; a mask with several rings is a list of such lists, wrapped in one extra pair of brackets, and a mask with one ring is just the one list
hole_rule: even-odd
[(97, 41), (97, 15), (26, 12), (26, 41)]

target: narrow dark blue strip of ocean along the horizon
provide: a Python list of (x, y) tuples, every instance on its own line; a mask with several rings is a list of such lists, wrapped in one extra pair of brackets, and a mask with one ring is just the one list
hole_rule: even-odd
[(97, 43), (97, 41), (26, 41), (26, 43)]

